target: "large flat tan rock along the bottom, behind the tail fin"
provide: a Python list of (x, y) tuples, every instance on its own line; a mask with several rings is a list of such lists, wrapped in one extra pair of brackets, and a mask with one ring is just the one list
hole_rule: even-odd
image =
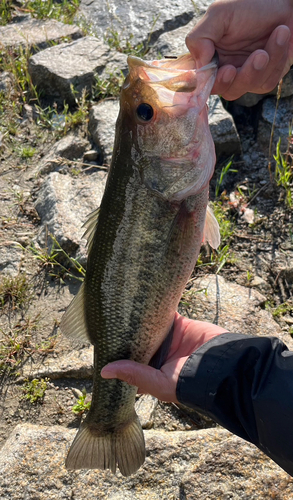
[[(17, 425), (0, 456), (1, 498), (10, 500), (291, 500), (290, 476), (253, 445), (224, 429), (145, 431), (139, 471), (67, 471), (76, 429)], [(280, 496), (281, 495), (281, 496)], [(276, 498), (277, 498), (276, 496)]]

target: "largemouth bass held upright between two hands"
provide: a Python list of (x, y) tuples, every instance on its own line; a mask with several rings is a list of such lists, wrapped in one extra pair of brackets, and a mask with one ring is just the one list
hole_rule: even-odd
[(91, 407), (65, 466), (118, 466), (124, 476), (145, 460), (137, 387), (103, 379), (101, 369), (120, 359), (162, 364), (202, 241), (219, 244), (208, 209), (215, 150), (206, 105), (216, 61), (197, 70), (190, 54), (129, 56), (128, 67), (105, 192), (86, 224), (86, 276), (60, 325), (94, 346)]

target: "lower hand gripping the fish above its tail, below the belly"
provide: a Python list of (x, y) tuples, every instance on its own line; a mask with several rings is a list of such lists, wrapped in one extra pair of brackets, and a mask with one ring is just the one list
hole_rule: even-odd
[(202, 344), (227, 330), (204, 321), (194, 321), (175, 314), (172, 345), (160, 370), (130, 360), (110, 363), (101, 371), (103, 378), (118, 378), (137, 386), (138, 392), (152, 394), (162, 401), (178, 402), (176, 386), (187, 358)]

